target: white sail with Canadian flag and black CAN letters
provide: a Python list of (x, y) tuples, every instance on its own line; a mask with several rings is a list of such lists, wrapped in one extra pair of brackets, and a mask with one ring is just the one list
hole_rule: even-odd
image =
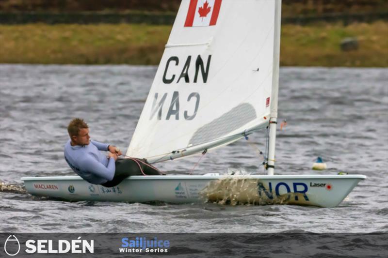
[(183, 0), (127, 155), (178, 158), (267, 126), (274, 17), (274, 0)]

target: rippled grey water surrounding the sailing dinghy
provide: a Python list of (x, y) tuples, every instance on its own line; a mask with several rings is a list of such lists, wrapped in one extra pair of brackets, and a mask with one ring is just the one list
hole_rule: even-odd
[[(66, 126), (84, 118), (92, 138), (128, 147), (154, 66), (0, 65), (1, 231), (387, 232), (387, 69), (281, 68), (276, 172), (364, 174), (337, 208), (289, 205), (63, 202), (32, 197), (24, 176), (74, 175), (63, 158)], [(265, 134), (250, 140), (263, 149)], [(328, 169), (312, 171), (317, 156)], [(158, 165), (187, 174), (198, 156)], [(264, 174), (245, 140), (207, 153), (193, 174)]]

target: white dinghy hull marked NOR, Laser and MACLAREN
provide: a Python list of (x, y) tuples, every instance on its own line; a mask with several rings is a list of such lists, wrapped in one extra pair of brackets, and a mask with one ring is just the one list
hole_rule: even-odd
[(131, 176), (115, 187), (91, 184), (78, 176), (24, 177), (36, 196), (72, 201), (296, 204), (335, 207), (364, 175), (176, 175)]

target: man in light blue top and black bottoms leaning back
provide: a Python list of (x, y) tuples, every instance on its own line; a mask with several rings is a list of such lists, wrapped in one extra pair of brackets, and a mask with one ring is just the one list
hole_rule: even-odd
[(113, 187), (129, 176), (162, 174), (145, 159), (118, 158), (122, 155), (118, 148), (91, 140), (89, 127), (82, 119), (70, 121), (67, 132), (70, 139), (65, 144), (65, 160), (87, 182)]

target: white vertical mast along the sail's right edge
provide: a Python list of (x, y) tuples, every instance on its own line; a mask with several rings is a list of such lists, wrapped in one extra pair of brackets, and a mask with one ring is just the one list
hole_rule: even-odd
[(281, 0), (275, 0), (275, 30), (274, 30), (274, 59), (272, 74), (270, 136), (268, 147), (267, 169), (268, 175), (273, 175), (275, 170), (275, 140), (277, 123), (277, 94), (279, 91), (279, 56), (280, 56), (280, 24), (281, 24)]

